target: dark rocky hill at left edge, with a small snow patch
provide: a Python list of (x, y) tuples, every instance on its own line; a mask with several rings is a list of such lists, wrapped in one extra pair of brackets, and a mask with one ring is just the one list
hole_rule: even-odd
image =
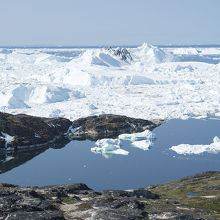
[[(43, 145), (59, 139), (71, 125), (64, 118), (41, 118), (24, 114), (11, 115), (0, 112), (0, 148), (22, 148)], [(13, 137), (7, 143), (5, 134)]]

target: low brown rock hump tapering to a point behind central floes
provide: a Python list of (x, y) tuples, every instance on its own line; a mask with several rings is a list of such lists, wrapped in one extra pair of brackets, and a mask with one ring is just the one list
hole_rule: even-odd
[(82, 139), (97, 140), (116, 137), (123, 133), (131, 134), (146, 129), (153, 130), (163, 123), (162, 120), (148, 121), (121, 115), (95, 115), (73, 121), (72, 127), (78, 129), (72, 135)]

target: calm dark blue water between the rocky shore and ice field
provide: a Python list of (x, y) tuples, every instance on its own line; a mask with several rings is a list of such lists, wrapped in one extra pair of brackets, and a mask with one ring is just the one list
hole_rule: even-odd
[[(112, 155), (109, 159), (93, 154), (91, 141), (23, 152), (11, 160), (10, 155), (1, 155), (0, 182), (38, 186), (83, 182), (101, 191), (143, 187), (220, 170), (220, 154), (184, 156), (169, 150), (181, 143), (210, 144), (214, 136), (220, 137), (220, 121), (170, 120), (154, 133), (157, 139), (150, 150), (127, 147), (124, 149), (130, 152), (128, 156)], [(8, 161), (3, 161), (5, 158)]]

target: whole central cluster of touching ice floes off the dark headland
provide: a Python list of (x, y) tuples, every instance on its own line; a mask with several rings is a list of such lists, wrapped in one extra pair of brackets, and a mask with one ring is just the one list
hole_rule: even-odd
[[(142, 150), (149, 150), (154, 138), (154, 134), (149, 130), (140, 133), (121, 134), (118, 136), (118, 139), (101, 139), (96, 141), (97, 147), (91, 148), (91, 151), (93, 153), (101, 153), (106, 158), (109, 158), (111, 154), (128, 155), (129, 152), (121, 147), (133, 146)], [(121, 142), (121, 140), (125, 141)]]

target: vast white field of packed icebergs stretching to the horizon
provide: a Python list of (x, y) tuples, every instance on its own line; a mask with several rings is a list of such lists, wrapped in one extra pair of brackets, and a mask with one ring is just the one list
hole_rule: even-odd
[(220, 47), (1, 48), (0, 111), (71, 120), (220, 118)]

